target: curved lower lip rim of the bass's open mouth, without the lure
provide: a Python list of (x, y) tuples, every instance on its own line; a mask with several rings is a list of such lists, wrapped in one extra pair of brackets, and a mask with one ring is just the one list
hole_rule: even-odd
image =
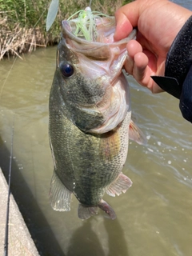
[[(114, 17), (110, 17), (110, 19), (114, 22)], [(114, 24), (112, 21), (111, 24)], [(79, 38), (74, 34), (74, 22), (62, 21), (62, 35), (66, 40), (66, 45), (70, 50), (83, 54), (91, 60), (108, 61), (111, 55), (126, 55), (126, 44), (136, 37), (136, 30), (133, 30), (127, 38), (114, 42), (115, 26), (105, 27), (105, 23), (109, 23), (109, 18), (107, 18), (107, 22), (103, 18), (102, 22), (104, 30), (102, 31), (101, 24), (98, 24), (97, 41), (87, 41), (86, 38)]]

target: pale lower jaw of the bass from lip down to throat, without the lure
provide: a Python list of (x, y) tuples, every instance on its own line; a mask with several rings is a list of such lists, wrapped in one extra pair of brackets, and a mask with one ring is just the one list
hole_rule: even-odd
[(76, 36), (73, 21), (62, 21), (62, 36), (66, 47), (78, 58), (79, 72), (87, 78), (99, 79), (105, 89), (122, 73), (127, 58), (126, 44), (136, 37), (137, 31), (133, 30), (127, 38), (114, 42), (114, 17), (102, 18), (96, 25), (98, 37), (95, 41)]

